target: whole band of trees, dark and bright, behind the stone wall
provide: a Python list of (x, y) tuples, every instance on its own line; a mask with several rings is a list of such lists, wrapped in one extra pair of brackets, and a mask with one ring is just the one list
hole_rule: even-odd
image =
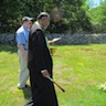
[[(42, 11), (51, 14), (50, 33), (106, 33), (106, 0), (96, 8), (91, 8), (87, 1), (0, 0), (0, 33), (15, 32), (24, 15), (33, 17), (35, 21)], [(57, 11), (62, 18), (55, 21), (53, 13)]]

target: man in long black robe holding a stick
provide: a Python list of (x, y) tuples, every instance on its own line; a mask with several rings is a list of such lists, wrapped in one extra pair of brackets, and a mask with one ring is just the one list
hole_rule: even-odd
[(41, 12), (31, 28), (28, 67), (32, 99), (25, 106), (59, 106), (54, 85), (46, 78), (53, 77), (52, 57), (43, 31), (49, 24), (50, 15)]

